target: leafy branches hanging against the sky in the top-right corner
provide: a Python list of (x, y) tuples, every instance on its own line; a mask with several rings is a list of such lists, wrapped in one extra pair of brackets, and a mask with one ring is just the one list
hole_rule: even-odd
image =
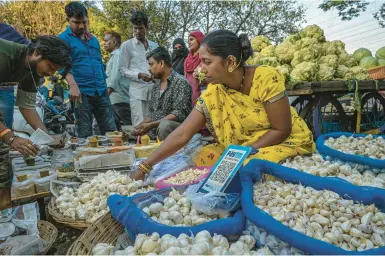
[[(364, 0), (328, 0), (322, 3), (319, 8), (327, 12), (337, 10), (341, 20), (352, 20), (367, 10), (370, 3)], [(385, 27), (385, 3), (380, 9), (373, 13), (373, 17), (381, 27)]]

